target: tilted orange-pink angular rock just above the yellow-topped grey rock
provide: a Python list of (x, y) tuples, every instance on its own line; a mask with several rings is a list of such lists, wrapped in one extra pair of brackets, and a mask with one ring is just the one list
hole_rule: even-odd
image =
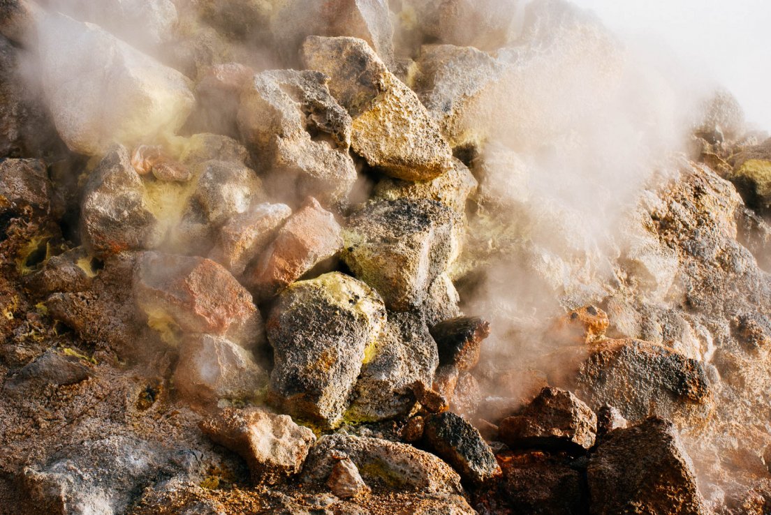
[(260, 298), (271, 297), (335, 255), (342, 247), (340, 234), (335, 216), (308, 197), (251, 270), (247, 270), (247, 284)]

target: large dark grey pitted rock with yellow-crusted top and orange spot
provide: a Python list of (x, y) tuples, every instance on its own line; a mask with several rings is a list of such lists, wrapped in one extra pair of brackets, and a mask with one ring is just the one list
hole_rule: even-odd
[(384, 322), (379, 295), (347, 275), (292, 284), (268, 318), (273, 402), (292, 416), (337, 426)]

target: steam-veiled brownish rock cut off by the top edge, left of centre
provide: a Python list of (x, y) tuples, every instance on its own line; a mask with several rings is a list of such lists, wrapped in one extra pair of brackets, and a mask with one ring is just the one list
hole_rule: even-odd
[(393, 62), (393, 27), (385, 0), (333, 0), (318, 5), (289, 0), (273, 15), (271, 32), (275, 45), (290, 63), (308, 35), (360, 38), (382, 61)]

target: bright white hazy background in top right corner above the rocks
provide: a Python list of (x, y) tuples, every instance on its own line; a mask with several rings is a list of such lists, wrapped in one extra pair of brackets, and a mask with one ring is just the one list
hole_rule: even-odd
[(747, 121), (771, 130), (769, 0), (573, 0), (624, 38), (668, 49), (726, 86)]

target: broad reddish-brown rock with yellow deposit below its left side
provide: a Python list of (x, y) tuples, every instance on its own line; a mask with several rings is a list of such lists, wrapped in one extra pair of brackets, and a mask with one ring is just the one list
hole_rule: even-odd
[(148, 325), (162, 336), (174, 330), (221, 335), (244, 348), (263, 340), (251, 295), (210, 259), (145, 252), (136, 263), (133, 291)]

